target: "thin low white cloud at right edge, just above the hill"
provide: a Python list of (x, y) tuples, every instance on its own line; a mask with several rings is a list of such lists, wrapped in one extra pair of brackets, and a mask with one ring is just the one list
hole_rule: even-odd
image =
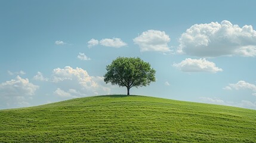
[[(236, 90), (240, 90), (240, 89), (249, 89), (252, 92), (256, 92), (256, 85), (245, 82), (243, 80), (240, 80), (238, 83), (230, 83), (229, 86), (226, 86), (223, 89), (227, 89), (227, 90), (232, 90), (232, 89), (236, 89)], [(256, 95), (256, 93), (253, 93), (252, 95)]]

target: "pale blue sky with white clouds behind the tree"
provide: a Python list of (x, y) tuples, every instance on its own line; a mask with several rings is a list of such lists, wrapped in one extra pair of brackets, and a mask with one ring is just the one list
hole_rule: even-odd
[(256, 110), (256, 1), (0, 1), (0, 109), (126, 94), (117, 57), (156, 82), (132, 95)]

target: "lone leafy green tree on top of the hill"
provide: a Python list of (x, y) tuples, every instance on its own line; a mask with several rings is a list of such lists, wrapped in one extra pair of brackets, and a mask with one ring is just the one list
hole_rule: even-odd
[(118, 57), (106, 70), (104, 82), (127, 87), (127, 95), (132, 87), (147, 86), (156, 80), (156, 70), (140, 58)]

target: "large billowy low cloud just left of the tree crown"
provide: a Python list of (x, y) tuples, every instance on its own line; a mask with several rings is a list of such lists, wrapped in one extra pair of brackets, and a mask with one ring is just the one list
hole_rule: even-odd
[(110, 88), (104, 83), (103, 77), (90, 76), (86, 70), (79, 67), (56, 68), (53, 70), (51, 81), (59, 88), (54, 94), (60, 97), (61, 95), (62, 97), (85, 97), (110, 93)]

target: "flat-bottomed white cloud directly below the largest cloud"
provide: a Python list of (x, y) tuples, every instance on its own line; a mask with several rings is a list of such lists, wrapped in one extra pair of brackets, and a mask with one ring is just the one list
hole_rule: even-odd
[(211, 72), (216, 73), (218, 71), (223, 71), (219, 67), (216, 67), (215, 63), (205, 60), (205, 58), (200, 59), (191, 59), (186, 58), (186, 60), (181, 61), (181, 63), (173, 64), (174, 67), (177, 67), (184, 72)]

